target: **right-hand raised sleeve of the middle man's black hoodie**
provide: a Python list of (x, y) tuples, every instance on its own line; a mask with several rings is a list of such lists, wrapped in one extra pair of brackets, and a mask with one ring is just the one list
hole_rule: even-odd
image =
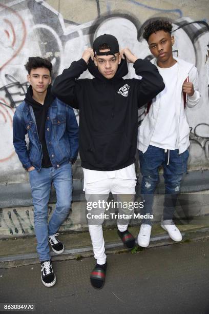
[(137, 59), (134, 63), (136, 75), (142, 76), (136, 84), (138, 108), (150, 102), (165, 87), (162, 76), (159, 74), (157, 67), (148, 60)]

